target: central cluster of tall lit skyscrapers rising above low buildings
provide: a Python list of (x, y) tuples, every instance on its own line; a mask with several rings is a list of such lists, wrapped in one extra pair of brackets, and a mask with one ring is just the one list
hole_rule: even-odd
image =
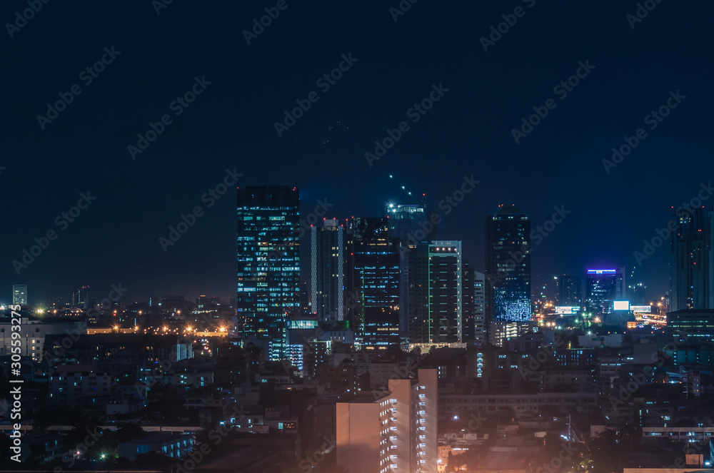
[[(306, 316), (298, 207), (296, 188), (238, 189), (238, 325), (271, 360), (287, 357), (291, 317)], [(484, 343), (489, 330), (531, 322), (528, 215), (502, 206), (488, 216), (486, 268), (476, 271), (460, 240), (438, 238), (441, 219), (425, 205), (390, 204), (382, 214), (311, 226), (303, 254), (318, 322), (349, 327), (368, 349)]]

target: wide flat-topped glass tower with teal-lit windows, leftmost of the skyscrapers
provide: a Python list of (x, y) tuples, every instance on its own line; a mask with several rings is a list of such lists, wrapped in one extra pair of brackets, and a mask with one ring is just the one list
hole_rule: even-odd
[(238, 327), (268, 343), (269, 360), (288, 356), (287, 321), (300, 307), (298, 208), (297, 188), (238, 189)]

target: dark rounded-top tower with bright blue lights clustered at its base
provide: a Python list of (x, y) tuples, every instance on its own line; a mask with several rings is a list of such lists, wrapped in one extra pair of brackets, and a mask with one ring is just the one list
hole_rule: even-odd
[(531, 321), (531, 220), (515, 205), (486, 219), (489, 322)]

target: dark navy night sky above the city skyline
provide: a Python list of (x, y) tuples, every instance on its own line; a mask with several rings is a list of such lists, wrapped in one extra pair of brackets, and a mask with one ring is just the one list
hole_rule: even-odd
[[(636, 266), (633, 252), (671, 206), (712, 180), (710, 1), (645, 2), (654, 8), (632, 28), (636, 1), (403, 0), (411, 8), (394, 21), (398, 0), (287, 0), (248, 45), (243, 30), (276, 3), (55, 0), (12, 38), (4, 27), (0, 302), (23, 283), (30, 302), (79, 285), (101, 300), (118, 283), (129, 300), (233, 297), (235, 186), (211, 208), (201, 199), (226, 169), (243, 175), (239, 186), (300, 188), (304, 215), (321, 199), (329, 217), (377, 216), (424, 193), (443, 218), (440, 237), (463, 240), (478, 269), (483, 223), (499, 204), (518, 205), (533, 228), (564, 206), (570, 214), (533, 248), (540, 285), (588, 266)], [(521, 16), (509, 16), (516, 7)], [(14, 24), (27, 8), (4, 1), (0, 19)], [(502, 15), (516, 24), (484, 51)], [(350, 54), (328, 90), (316, 83)], [(103, 56), (104, 71), (82, 73)], [(554, 87), (580, 61), (594, 68), (563, 97)], [(195, 78), (210, 84), (187, 108), (172, 106)], [(74, 84), (81, 93), (43, 130), (37, 117)], [(408, 110), (439, 84), (448, 91), (414, 123)], [(278, 136), (274, 123), (312, 91), (318, 100)], [(685, 98), (651, 130), (645, 116), (670, 91)], [(555, 108), (517, 144), (512, 129), (549, 98)], [(127, 147), (164, 115), (171, 123), (132, 159)], [(369, 166), (365, 153), (402, 121), (408, 131)], [(607, 173), (603, 159), (638, 128), (647, 136)], [(439, 202), (472, 175), (480, 183), (446, 215)], [(87, 191), (96, 200), (58, 225)], [(198, 205), (203, 216), (164, 252), (159, 238)], [(17, 275), (13, 260), (48, 230), (56, 239)], [(667, 290), (668, 243), (638, 268), (651, 297)]]

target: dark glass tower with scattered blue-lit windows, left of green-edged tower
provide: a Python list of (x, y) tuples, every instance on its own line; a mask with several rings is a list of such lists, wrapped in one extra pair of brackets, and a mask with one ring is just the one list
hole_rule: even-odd
[(393, 340), (393, 330), (388, 327), (399, 327), (401, 322), (400, 255), (398, 244), (389, 238), (388, 218), (348, 220), (347, 245), (348, 320), (354, 327), (355, 345), (363, 345), (366, 327), (377, 325), (388, 329), (380, 331), (384, 337), (378, 345), (383, 345)]

